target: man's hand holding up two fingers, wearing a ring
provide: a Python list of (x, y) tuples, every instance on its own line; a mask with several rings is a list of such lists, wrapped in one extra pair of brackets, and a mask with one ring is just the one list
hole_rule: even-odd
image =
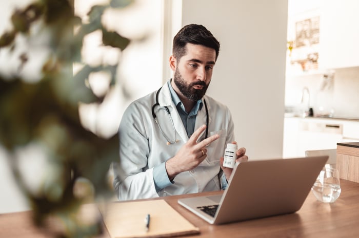
[(206, 125), (202, 125), (200, 128), (196, 129), (187, 143), (178, 150), (177, 154), (166, 161), (167, 175), (171, 181), (180, 172), (188, 171), (197, 167), (207, 157), (206, 145), (220, 138), (220, 135), (216, 134), (199, 143), (196, 143), (205, 129)]

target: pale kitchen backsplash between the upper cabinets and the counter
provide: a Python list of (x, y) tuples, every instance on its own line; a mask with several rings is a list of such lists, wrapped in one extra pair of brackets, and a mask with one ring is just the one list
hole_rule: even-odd
[(300, 106), (303, 89), (307, 87), (314, 114), (326, 107), (332, 110), (333, 117), (359, 119), (359, 67), (340, 68), (334, 72), (331, 85), (324, 90), (321, 90), (325, 81), (323, 74), (287, 76), (286, 106)]

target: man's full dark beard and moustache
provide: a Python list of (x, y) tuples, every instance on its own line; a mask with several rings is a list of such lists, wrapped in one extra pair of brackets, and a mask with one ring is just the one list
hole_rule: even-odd
[[(174, 84), (176, 84), (179, 92), (183, 94), (187, 99), (191, 101), (198, 101), (206, 94), (206, 91), (208, 89), (208, 85), (204, 81), (196, 81), (191, 83), (186, 83), (184, 78), (182, 77), (181, 73), (179, 73), (178, 69), (174, 71), (174, 77), (173, 77)], [(194, 89), (194, 85), (200, 85), (203, 86), (202, 89)]]

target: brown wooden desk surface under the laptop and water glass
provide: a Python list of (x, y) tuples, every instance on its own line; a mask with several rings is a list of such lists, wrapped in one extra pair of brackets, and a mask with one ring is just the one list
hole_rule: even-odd
[[(209, 225), (177, 203), (178, 198), (198, 194), (164, 199), (201, 230), (200, 235), (183, 237), (359, 237), (359, 183), (341, 180), (341, 186), (341, 196), (333, 204), (318, 202), (310, 192), (296, 213), (219, 226)], [(221, 192), (207, 194), (218, 193)], [(32, 226), (30, 216), (31, 211), (0, 214), (0, 237), (46, 237)], [(102, 237), (109, 238), (109, 235), (105, 233)]]

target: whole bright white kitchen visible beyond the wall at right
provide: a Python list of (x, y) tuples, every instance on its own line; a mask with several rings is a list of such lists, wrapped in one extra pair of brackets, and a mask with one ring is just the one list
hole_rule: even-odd
[(359, 141), (358, 9), (354, 0), (288, 1), (285, 158)]

